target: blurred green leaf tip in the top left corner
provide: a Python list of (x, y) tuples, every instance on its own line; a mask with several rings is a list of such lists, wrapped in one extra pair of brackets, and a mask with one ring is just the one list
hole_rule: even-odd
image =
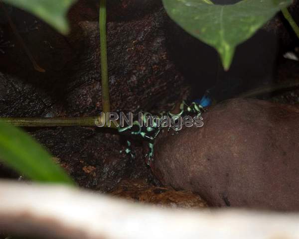
[(66, 15), (76, 0), (2, 0), (5, 3), (26, 10), (56, 28), (60, 33), (67, 34), (69, 25)]

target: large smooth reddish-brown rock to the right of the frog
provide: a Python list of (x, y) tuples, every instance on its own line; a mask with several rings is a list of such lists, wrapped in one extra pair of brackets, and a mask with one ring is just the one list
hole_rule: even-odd
[(151, 167), (165, 186), (216, 207), (299, 210), (298, 106), (233, 99), (203, 119), (159, 135)]

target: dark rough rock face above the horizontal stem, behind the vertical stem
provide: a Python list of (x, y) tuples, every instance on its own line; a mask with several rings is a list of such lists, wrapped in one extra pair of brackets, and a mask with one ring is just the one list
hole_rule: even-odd
[[(7, 40), (15, 44), (0, 59), (1, 117), (49, 113), (74, 117), (101, 112), (98, 9), (99, 1), (77, 1), (68, 14), (68, 36), (29, 13), (13, 9), (12, 18), (21, 37), (46, 72), (33, 69), (9, 26), (0, 24)], [(161, 1), (109, 1), (107, 44), (112, 110), (149, 111), (160, 101), (173, 102), (180, 95), (183, 77), (168, 54), (166, 19)], [(23, 32), (23, 21), (37, 21), (36, 30)]]

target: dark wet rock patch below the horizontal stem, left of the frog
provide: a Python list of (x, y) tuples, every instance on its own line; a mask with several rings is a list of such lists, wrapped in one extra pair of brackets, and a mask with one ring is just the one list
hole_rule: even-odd
[[(113, 131), (102, 133), (89, 127), (57, 127), (37, 129), (31, 135), (51, 151), (55, 161), (81, 187), (107, 192), (123, 179), (151, 180), (144, 161), (120, 153), (125, 146)], [(140, 154), (137, 152), (139, 157)]]

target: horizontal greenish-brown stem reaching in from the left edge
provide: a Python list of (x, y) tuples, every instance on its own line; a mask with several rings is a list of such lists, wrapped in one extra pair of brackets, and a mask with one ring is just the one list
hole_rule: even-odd
[[(83, 117), (83, 118), (0, 118), (2, 122), (14, 126), (27, 127), (50, 127), (50, 126), (98, 126), (101, 118)], [(105, 127), (107, 125), (105, 124)], [(117, 128), (113, 123), (111, 128)]]

